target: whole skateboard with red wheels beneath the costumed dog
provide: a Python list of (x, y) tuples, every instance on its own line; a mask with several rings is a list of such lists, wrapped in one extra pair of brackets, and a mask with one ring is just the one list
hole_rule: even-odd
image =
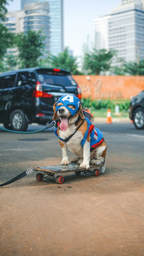
[[(38, 181), (42, 181), (43, 179), (52, 179), (55, 180), (57, 184), (62, 184), (64, 182), (64, 177), (58, 175), (55, 177), (57, 173), (71, 173), (75, 172), (76, 175), (79, 175), (81, 172), (83, 173), (92, 173), (94, 176), (100, 175), (100, 170), (98, 168), (104, 166), (105, 163), (99, 165), (91, 165), (88, 170), (85, 168), (79, 168), (79, 164), (69, 164), (69, 165), (51, 165), (45, 167), (32, 167), (34, 171), (41, 171), (42, 173), (37, 173), (36, 179)], [(91, 169), (94, 169), (91, 171)]]

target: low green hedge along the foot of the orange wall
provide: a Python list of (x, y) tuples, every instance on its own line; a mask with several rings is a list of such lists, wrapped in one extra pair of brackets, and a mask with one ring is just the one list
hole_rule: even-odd
[(82, 99), (82, 106), (91, 108), (91, 110), (95, 109), (101, 109), (110, 108), (111, 110), (115, 110), (115, 106), (119, 105), (120, 111), (127, 111), (129, 109), (130, 100), (104, 100), (104, 99), (98, 99), (98, 100), (91, 100), (90, 98)]

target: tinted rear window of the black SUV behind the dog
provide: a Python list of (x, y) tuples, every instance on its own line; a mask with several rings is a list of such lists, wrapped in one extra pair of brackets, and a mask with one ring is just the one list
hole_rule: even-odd
[(38, 71), (37, 71), (37, 74), (38, 74), (38, 81), (43, 84), (62, 85), (62, 86), (77, 85), (70, 75), (64, 75), (62, 73), (57, 73), (57, 72), (53, 74), (44, 74), (42, 72), (38, 73)]

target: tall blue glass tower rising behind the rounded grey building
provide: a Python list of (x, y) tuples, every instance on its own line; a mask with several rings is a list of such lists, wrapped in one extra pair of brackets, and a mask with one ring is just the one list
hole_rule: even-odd
[(64, 49), (63, 42), (63, 0), (21, 0), (21, 8), (31, 3), (49, 3), (50, 53), (57, 55)]

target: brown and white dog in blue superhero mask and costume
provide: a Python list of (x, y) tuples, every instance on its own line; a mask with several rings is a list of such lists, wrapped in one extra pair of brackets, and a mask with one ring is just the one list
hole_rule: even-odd
[[(53, 106), (53, 120), (59, 118), (55, 135), (62, 150), (61, 164), (78, 163), (80, 168), (99, 165), (105, 161), (107, 144), (103, 134), (84, 115), (79, 98), (72, 95), (61, 96)], [(67, 148), (77, 157), (69, 162)], [(105, 164), (100, 168), (104, 173)]]

